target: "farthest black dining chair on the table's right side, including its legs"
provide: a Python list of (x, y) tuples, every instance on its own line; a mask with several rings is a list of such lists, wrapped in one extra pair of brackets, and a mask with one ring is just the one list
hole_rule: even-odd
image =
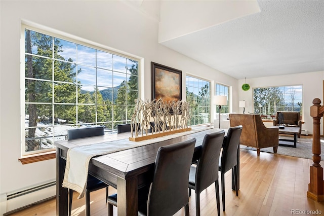
[(237, 151), (239, 151), (239, 137), (241, 135), (242, 128), (242, 125), (239, 125), (228, 129), (225, 144), (222, 151), (222, 156), (219, 159), (218, 169), (221, 172), (223, 211), (225, 211), (225, 173), (230, 169), (232, 170), (232, 173), (234, 173), (233, 179), (235, 185), (235, 192), (236, 196), (238, 196)]

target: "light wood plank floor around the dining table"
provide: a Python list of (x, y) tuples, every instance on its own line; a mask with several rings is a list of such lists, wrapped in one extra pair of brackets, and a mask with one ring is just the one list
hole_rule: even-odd
[[(303, 158), (256, 151), (240, 151), (240, 190), (238, 197), (231, 190), (231, 171), (225, 174), (226, 209), (221, 215), (292, 215), (292, 209), (299, 211), (319, 210), (324, 214), (324, 202), (317, 203), (307, 198), (309, 167), (312, 161)], [(324, 163), (321, 162), (321, 166)], [(221, 185), (221, 183), (219, 184)], [(116, 190), (109, 187), (109, 194)], [(105, 190), (91, 193), (91, 214), (107, 215), (104, 200)], [(189, 199), (190, 214), (195, 215), (195, 196)], [(200, 194), (201, 215), (217, 215), (215, 186)], [(302, 215), (315, 215), (300, 212)], [(11, 215), (56, 215), (55, 199), (29, 207)], [(73, 196), (72, 215), (85, 215), (85, 199)], [(114, 208), (117, 215), (117, 208)], [(181, 209), (176, 215), (184, 215)]]

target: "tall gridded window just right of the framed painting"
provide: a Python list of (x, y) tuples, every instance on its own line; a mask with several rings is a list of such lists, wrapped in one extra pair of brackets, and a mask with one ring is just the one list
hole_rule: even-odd
[(211, 122), (211, 83), (186, 76), (186, 100), (190, 105), (190, 125)]

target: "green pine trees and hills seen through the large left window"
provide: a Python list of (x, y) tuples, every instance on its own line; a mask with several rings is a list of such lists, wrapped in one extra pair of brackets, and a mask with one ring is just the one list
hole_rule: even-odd
[[(137, 61), (127, 59), (128, 80), (113, 88), (85, 91), (80, 82), (76, 83), (82, 69), (77, 69), (72, 58), (61, 55), (62, 48), (59, 39), (25, 29), (26, 151), (40, 149), (40, 139), (35, 136), (37, 123), (47, 128), (100, 124), (113, 130), (113, 123), (129, 122), (133, 114), (134, 100), (138, 98)], [(54, 140), (50, 142), (53, 144)]]

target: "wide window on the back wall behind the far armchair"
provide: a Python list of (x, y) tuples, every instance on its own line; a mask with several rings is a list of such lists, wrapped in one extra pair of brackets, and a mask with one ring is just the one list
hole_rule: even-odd
[(253, 89), (253, 109), (263, 119), (273, 119), (277, 111), (300, 112), (303, 86), (277, 86)]

